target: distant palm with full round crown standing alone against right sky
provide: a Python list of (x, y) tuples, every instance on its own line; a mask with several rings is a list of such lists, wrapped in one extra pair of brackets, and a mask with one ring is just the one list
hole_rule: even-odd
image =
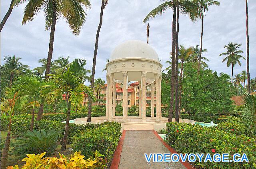
[(231, 65), (231, 69), (232, 69), (231, 84), (232, 85), (233, 85), (233, 68), (236, 64), (241, 66), (241, 62), (239, 61), (239, 59), (245, 59), (242, 55), (239, 55), (240, 53), (244, 53), (242, 50), (239, 50), (239, 47), (241, 45), (242, 44), (230, 42), (228, 43), (228, 45), (224, 46), (224, 48), (227, 48), (227, 52), (220, 54), (220, 56), (223, 56), (223, 55), (227, 56), (223, 59), (222, 63), (227, 61), (227, 66), (230, 67)]

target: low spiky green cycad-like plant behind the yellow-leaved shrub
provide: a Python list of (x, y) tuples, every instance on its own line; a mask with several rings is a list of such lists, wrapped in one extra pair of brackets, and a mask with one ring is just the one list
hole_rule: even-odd
[(46, 152), (46, 155), (52, 155), (57, 148), (57, 140), (60, 131), (50, 130), (48, 132), (33, 130), (24, 133), (23, 137), (17, 138), (14, 143), (13, 153), (17, 156), (26, 156), (26, 154), (40, 154)]

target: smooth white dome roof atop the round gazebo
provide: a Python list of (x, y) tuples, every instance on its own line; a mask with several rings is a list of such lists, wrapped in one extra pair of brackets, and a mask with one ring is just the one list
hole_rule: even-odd
[(145, 58), (159, 62), (156, 51), (147, 43), (139, 40), (128, 40), (118, 45), (112, 52), (109, 61), (125, 58)]

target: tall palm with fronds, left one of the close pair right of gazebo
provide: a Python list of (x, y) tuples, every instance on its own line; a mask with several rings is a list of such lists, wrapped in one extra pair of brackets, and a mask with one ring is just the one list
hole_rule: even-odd
[[(170, 93), (170, 110), (169, 110), (169, 118), (168, 121), (172, 121), (172, 112), (173, 112), (173, 96), (174, 96), (174, 80), (175, 80), (175, 48), (176, 48), (176, 8), (177, 4), (179, 4), (179, 8), (182, 14), (187, 14), (190, 16), (190, 19), (194, 20), (197, 18), (196, 9), (197, 6), (195, 3), (188, 0), (180, 0), (180, 3), (177, 3), (177, 0), (169, 0), (160, 4), (158, 7), (153, 9), (143, 20), (143, 23), (146, 23), (150, 18), (155, 18), (158, 15), (161, 15), (167, 9), (173, 10), (173, 18), (172, 18), (172, 78), (171, 78), (171, 93)], [(178, 24), (178, 22), (177, 22)]]

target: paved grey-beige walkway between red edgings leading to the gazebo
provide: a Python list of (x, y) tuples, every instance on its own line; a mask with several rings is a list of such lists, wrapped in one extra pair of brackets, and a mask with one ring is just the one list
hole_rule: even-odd
[(118, 169), (186, 169), (182, 163), (147, 163), (144, 153), (170, 153), (153, 131), (126, 130)]

